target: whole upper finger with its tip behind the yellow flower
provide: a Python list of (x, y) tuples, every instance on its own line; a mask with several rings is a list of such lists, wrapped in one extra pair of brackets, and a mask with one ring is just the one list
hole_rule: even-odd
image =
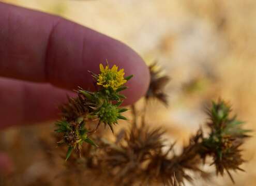
[(91, 74), (108, 59), (110, 66), (134, 74), (124, 91), (126, 104), (149, 85), (142, 58), (127, 45), (79, 24), (46, 13), (0, 3), (0, 75), (74, 89), (94, 90)]

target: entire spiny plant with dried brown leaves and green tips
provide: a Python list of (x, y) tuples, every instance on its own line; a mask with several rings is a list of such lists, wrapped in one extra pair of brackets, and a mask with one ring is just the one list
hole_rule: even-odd
[[(155, 64), (149, 67), (152, 78), (146, 99), (156, 98), (167, 104), (166, 94), (162, 88), (169, 78), (167, 76), (159, 77), (159, 71), (153, 71), (154, 66)], [(115, 67), (113, 68), (115, 69)], [(243, 122), (237, 120), (235, 116), (230, 116), (231, 107), (223, 100), (212, 102), (212, 106), (206, 111), (209, 116), (206, 122), (209, 133), (206, 134), (199, 129), (195, 135), (191, 136), (189, 143), (182, 147), (181, 153), (174, 152), (175, 143), (167, 145), (162, 127), (154, 129), (148, 126), (145, 113), (139, 115), (140, 112), (135, 110), (135, 105), (131, 106), (133, 125), (128, 131), (122, 129), (114, 134), (114, 140), (103, 138), (103, 132), (94, 137), (91, 136), (95, 134), (100, 122), (109, 125), (113, 130), (112, 124), (116, 123), (117, 119), (124, 119), (119, 113), (127, 110), (118, 108), (121, 98), (124, 98), (119, 91), (126, 87), (123, 87), (123, 84), (115, 87), (113, 84), (109, 89), (105, 83), (108, 81), (108, 79), (105, 80), (107, 77), (103, 78), (106, 75), (104, 73), (109, 73), (108, 70), (109, 66), (105, 69), (101, 67), (102, 77), (93, 74), (100, 86), (98, 91), (88, 92), (79, 88), (77, 90), (78, 97), (69, 98), (68, 104), (61, 107), (63, 120), (60, 121), (62, 125), (59, 129), (62, 131), (57, 132), (63, 134), (62, 141), (69, 148), (76, 149), (81, 135), (86, 134), (86, 138), (82, 138), (82, 140), (87, 142), (83, 148), (79, 146), (79, 154), (68, 152), (64, 156), (63, 149), (65, 148), (59, 148), (62, 157), (69, 158), (66, 162), (68, 170), (68, 174), (65, 174), (66, 177), (73, 173), (79, 175), (81, 179), (86, 179), (87, 183), (88, 180), (93, 180), (90, 184), (94, 185), (160, 183), (180, 186), (185, 185), (187, 181), (193, 182), (194, 177), (209, 180), (212, 174), (203, 169), (203, 165), (206, 164), (208, 166), (215, 165), (217, 175), (223, 176), (227, 172), (234, 182), (230, 171), (242, 170), (239, 166), (245, 161), (242, 158), (240, 146), (243, 145), (244, 139), (249, 137), (247, 134), (249, 130), (243, 130)], [(129, 77), (123, 80), (128, 79)], [(162, 85), (157, 85), (157, 82), (160, 84), (162, 82)], [(110, 102), (106, 103), (106, 100), (110, 100)], [(115, 101), (117, 104), (111, 101)], [(145, 106), (147, 106), (146, 103)], [(104, 112), (102, 108), (104, 108)], [(112, 109), (117, 112), (112, 112)], [(107, 113), (111, 112), (104, 115), (106, 111)], [(143, 111), (146, 110), (143, 109)], [(95, 123), (95, 120), (98, 123), (95, 130), (89, 131), (83, 128), (85, 123), (88, 126), (89, 123)], [(62, 128), (63, 125), (64, 128)], [(83, 130), (85, 131), (83, 132)], [(95, 142), (92, 139), (90, 139), (92, 142), (86, 141), (88, 136), (93, 137)], [(97, 144), (99, 148), (93, 148), (94, 144)], [(206, 161), (207, 157), (213, 162)]]

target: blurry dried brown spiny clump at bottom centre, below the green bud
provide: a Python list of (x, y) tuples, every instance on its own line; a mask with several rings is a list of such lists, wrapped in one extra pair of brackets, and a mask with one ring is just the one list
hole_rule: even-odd
[(117, 144), (104, 149), (101, 168), (108, 169), (117, 185), (138, 182), (150, 156), (163, 147), (162, 134), (161, 129), (132, 128)]

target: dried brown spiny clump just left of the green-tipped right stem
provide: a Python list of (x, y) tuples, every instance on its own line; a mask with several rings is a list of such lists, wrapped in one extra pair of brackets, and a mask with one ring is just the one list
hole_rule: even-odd
[(182, 185), (185, 180), (189, 182), (193, 180), (188, 172), (206, 175), (207, 173), (200, 168), (202, 161), (198, 153), (201, 137), (202, 133), (199, 130), (179, 155), (173, 152), (175, 144), (172, 144), (167, 152), (163, 152), (162, 149), (157, 151), (147, 167), (147, 180), (155, 178), (164, 185)]

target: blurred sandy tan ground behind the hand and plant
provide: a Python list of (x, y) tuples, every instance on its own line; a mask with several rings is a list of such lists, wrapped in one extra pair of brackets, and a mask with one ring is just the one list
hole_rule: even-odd
[[(158, 61), (171, 77), (169, 107), (150, 106), (152, 126), (163, 126), (183, 144), (204, 125), (204, 107), (219, 97), (233, 105), (245, 128), (256, 130), (256, 2), (254, 0), (5, 0), (53, 13), (121, 40), (150, 64)], [(124, 59), (125, 60), (125, 59)], [(157, 121), (157, 122), (156, 122)], [(42, 153), (41, 137), (53, 123), (1, 131), (0, 150), (9, 153), (20, 185), (57, 185)], [(251, 135), (254, 135), (253, 133)], [(235, 185), (256, 185), (254, 137), (246, 145)], [(17, 178), (18, 179), (18, 178)], [(189, 185), (189, 184), (188, 184)], [(225, 176), (214, 183), (232, 185)]]

